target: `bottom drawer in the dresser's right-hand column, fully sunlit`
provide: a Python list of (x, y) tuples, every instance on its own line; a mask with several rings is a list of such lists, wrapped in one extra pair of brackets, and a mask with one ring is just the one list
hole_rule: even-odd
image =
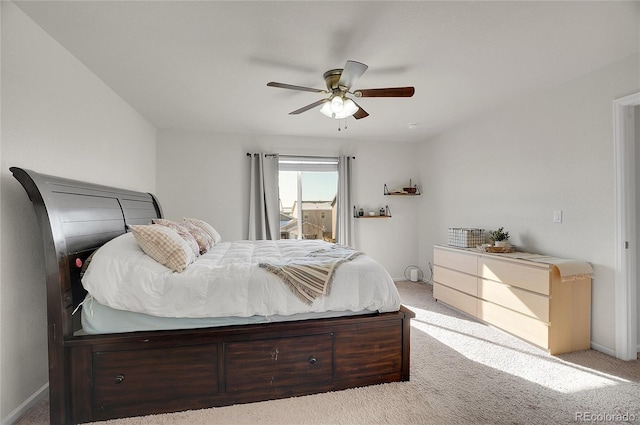
[(549, 348), (549, 326), (537, 319), (484, 300), (478, 300), (478, 318), (540, 347)]

